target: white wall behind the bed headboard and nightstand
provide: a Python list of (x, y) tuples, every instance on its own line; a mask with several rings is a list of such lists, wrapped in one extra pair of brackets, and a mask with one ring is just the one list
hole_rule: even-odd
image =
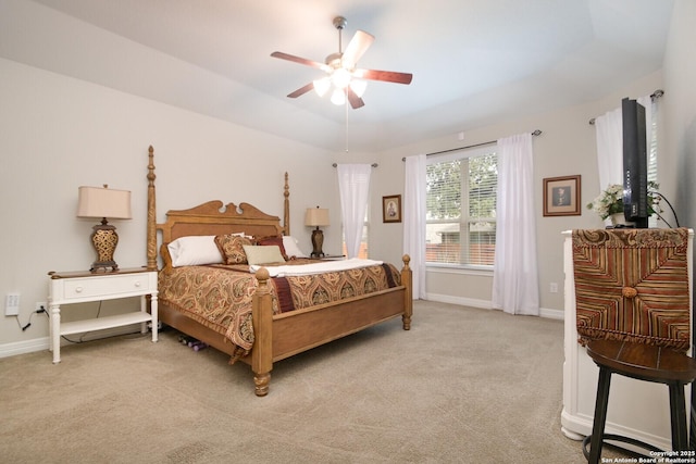
[[(78, 186), (133, 192), (133, 220), (113, 222), (115, 260), (121, 267), (146, 264), (150, 145), (158, 222), (166, 210), (213, 199), (247, 201), (282, 217), (287, 171), (291, 233), (302, 249), (311, 251), (306, 208), (327, 206), (338, 224), (333, 153), (9, 60), (0, 59), (0, 296), (21, 293), (21, 325), (35, 302), (46, 301), (49, 271), (88, 269), (95, 260), (89, 235), (98, 221), (75, 217)], [(339, 227), (326, 233), (325, 249), (339, 250)], [(0, 346), (46, 338), (47, 317), (32, 321), (22, 331), (3, 311)]]

